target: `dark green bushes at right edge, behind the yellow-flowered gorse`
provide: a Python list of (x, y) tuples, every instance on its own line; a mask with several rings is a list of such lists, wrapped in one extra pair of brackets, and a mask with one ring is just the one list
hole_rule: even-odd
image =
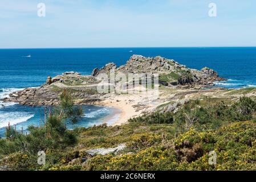
[(202, 106), (200, 101), (192, 101), (175, 115), (177, 130), (186, 131), (194, 126), (198, 130), (218, 129), (218, 127), (235, 121), (247, 121), (255, 118), (256, 102), (248, 97), (239, 102), (227, 105), (220, 102), (216, 105)]

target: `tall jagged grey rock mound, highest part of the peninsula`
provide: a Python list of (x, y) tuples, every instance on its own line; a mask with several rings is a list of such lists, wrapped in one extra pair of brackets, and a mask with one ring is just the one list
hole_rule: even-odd
[(168, 85), (186, 85), (200, 84), (210, 85), (214, 81), (225, 80), (218, 76), (216, 71), (209, 68), (202, 68), (201, 71), (187, 68), (185, 65), (179, 64), (172, 59), (165, 59), (161, 56), (144, 57), (141, 55), (133, 55), (127, 64), (116, 67), (116, 64), (109, 63), (105, 67), (95, 68), (93, 76), (100, 73), (109, 73), (111, 70), (115, 72), (128, 73), (158, 73), (160, 84)]

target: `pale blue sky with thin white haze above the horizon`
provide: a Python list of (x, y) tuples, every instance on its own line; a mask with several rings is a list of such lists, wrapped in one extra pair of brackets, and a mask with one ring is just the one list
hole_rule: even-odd
[(256, 46), (255, 0), (0, 0), (0, 48), (212, 46)]

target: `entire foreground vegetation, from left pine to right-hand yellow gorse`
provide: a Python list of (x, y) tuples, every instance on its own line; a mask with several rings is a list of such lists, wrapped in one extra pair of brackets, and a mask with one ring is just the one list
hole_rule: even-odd
[[(238, 102), (204, 98), (189, 101), (176, 114), (158, 111), (121, 126), (104, 124), (73, 131), (66, 129), (64, 121), (79, 119), (79, 108), (69, 94), (61, 98), (44, 127), (31, 126), (28, 135), (7, 128), (6, 139), (0, 139), (0, 166), (17, 170), (255, 170), (256, 102), (252, 98), (241, 97)], [(127, 147), (117, 153), (90, 156), (85, 152), (121, 143)], [(41, 150), (46, 152), (44, 166), (37, 164)], [(216, 165), (208, 162), (210, 151), (217, 154)]]

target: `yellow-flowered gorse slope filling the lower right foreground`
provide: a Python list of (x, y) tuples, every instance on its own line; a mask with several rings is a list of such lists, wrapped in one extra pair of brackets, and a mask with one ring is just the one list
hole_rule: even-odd
[[(216, 131), (190, 129), (175, 140), (162, 142), (134, 154), (92, 158), (92, 170), (255, 170), (256, 124), (234, 123)], [(150, 139), (148, 139), (150, 140)], [(209, 152), (216, 151), (217, 164), (210, 165)]]

